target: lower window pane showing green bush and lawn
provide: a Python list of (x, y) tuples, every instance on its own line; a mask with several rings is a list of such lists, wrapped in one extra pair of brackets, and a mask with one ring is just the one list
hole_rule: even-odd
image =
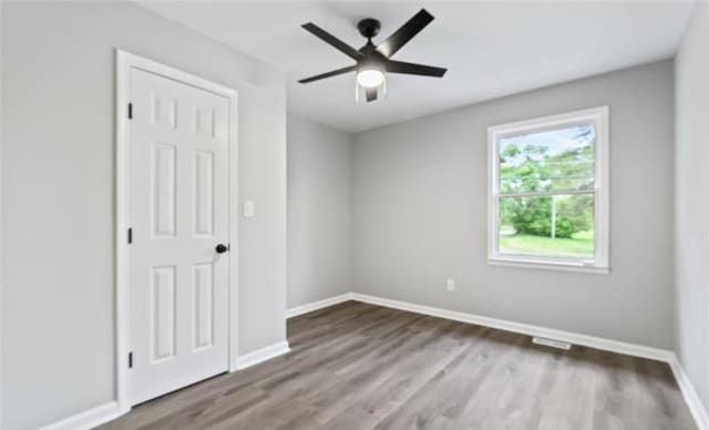
[(594, 195), (501, 197), (500, 253), (594, 257)]

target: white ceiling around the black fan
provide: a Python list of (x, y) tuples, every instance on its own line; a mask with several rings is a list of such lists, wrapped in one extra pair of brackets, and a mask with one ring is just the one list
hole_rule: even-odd
[[(674, 55), (688, 1), (141, 2), (286, 73), (288, 108), (357, 132)], [(435, 20), (393, 58), (449, 69), (443, 79), (392, 74), (389, 93), (354, 103), (353, 73), (299, 84), (353, 62), (300, 28), (314, 22), (356, 48), (357, 22), (382, 41), (421, 7)]]

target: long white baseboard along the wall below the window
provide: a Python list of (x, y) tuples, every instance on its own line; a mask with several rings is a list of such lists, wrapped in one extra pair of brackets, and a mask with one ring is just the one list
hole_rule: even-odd
[(496, 328), (500, 330), (517, 332), (532, 337), (543, 337), (546, 339), (562, 340), (568, 344), (580, 345), (595, 349), (602, 349), (610, 352), (624, 354), (627, 356), (649, 358), (653, 360), (659, 360), (669, 362), (672, 357), (672, 351), (666, 349), (650, 348), (643, 345), (629, 344), (618, 340), (604, 339), (600, 337), (580, 335), (572, 331), (557, 330), (547, 327), (534, 326), (531, 324), (514, 322), (504, 319), (483, 317), (474, 314), (460, 313), (455, 310), (448, 310), (435, 308), (432, 306), (415, 305), (408, 301), (392, 300), (388, 298), (381, 298), (376, 296), (368, 296), (363, 294), (352, 294), (352, 300), (368, 303), (371, 305), (384, 306), (388, 308), (408, 310), (411, 313), (429, 315), (432, 317), (451, 319), (454, 321), (475, 324), (479, 326), (485, 326)]

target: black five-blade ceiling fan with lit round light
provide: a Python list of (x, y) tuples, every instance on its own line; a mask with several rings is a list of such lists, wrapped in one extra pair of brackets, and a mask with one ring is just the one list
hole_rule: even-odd
[(378, 89), (386, 85), (384, 73), (404, 73), (442, 78), (445, 74), (445, 69), (391, 60), (391, 57), (397, 53), (397, 51), (413, 39), (413, 37), (423, 30), (423, 28), (431, 21), (433, 21), (433, 16), (425, 9), (421, 9), (419, 13), (414, 14), (413, 18), (401, 25), (399, 30), (394, 31), (389, 39), (384, 40), (379, 45), (374, 45), (374, 43), (372, 43), (372, 38), (379, 33), (381, 23), (373, 18), (363, 19), (359, 21), (357, 28), (359, 29), (360, 34), (367, 38), (367, 43), (359, 50), (342, 42), (312, 22), (302, 24), (304, 29), (357, 61), (357, 64), (301, 79), (298, 82), (308, 83), (357, 71), (357, 84), (364, 89), (367, 101), (372, 102), (377, 100)]

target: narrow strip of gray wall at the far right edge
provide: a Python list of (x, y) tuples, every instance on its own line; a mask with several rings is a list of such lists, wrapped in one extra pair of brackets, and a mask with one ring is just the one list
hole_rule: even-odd
[(709, 408), (709, 7), (697, 2), (676, 60), (676, 345)]

